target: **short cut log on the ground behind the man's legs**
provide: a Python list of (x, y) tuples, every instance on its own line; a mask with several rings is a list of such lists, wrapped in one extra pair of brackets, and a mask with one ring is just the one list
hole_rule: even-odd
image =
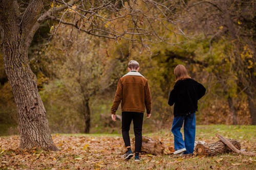
[[(135, 138), (131, 141), (132, 151), (135, 150)], [(125, 147), (123, 147), (123, 153), (127, 151)], [(147, 154), (153, 155), (163, 155), (164, 153), (164, 144), (156, 139), (152, 139), (150, 137), (142, 136), (142, 147), (141, 152), (145, 152)]]

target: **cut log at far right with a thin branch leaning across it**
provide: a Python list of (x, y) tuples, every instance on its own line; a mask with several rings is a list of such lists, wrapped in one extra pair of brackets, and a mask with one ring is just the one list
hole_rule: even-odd
[[(241, 144), (234, 140), (234, 139), (228, 139), (229, 142), (231, 142), (234, 147), (236, 147), (238, 150), (241, 149)], [(197, 155), (217, 155), (217, 154), (223, 154), (223, 153), (229, 153), (232, 152), (232, 150), (224, 144), (221, 140), (215, 142), (215, 143), (197, 143), (195, 152)]]

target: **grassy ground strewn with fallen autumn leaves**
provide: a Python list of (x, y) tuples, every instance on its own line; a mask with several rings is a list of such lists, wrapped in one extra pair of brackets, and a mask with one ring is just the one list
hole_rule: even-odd
[[(255, 126), (198, 126), (196, 140), (218, 141), (215, 133), (240, 141), (242, 149), (256, 152)], [(173, 135), (168, 130), (145, 134), (161, 140), (165, 154), (142, 154), (141, 162), (123, 160), (120, 135), (53, 134), (59, 152), (18, 150), (19, 137), (0, 137), (0, 169), (256, 169), (256, 157), (235, 153), (212, 157), (173, 156)]]

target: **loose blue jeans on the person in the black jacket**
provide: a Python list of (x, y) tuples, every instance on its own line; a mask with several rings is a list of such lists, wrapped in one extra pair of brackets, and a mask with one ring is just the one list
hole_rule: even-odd
[[(180, 129), (184, 122), (184, 140)], [(174, 134), (174, 149), (179, 150), (186, 148), (184, 154), (194, 152), (196, 137), (196, 113), (187, 114), (185, 116), (176, 116), (173, 120), (172, 132)]]

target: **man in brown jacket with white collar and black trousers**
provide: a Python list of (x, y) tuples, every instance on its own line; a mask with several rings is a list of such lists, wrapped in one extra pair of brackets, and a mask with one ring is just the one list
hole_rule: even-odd
[(128, 63), (129, 72), (119, 79), (115, 99), (111, 107), (111, 117), (116, 121), (116, 110), (121, 103), (122, 136), (127, 152), (124, 159), (133, 157), (130, 143), (130, 125), (133, 120), (135, 134), (135, 161), (140, 161), (139, 153), (142, 145), (143, 113), (146, 107), (147, 118), (151, 116), (151, 93), (147, 79), (139, 71), (139, 63), (131, 60)]

